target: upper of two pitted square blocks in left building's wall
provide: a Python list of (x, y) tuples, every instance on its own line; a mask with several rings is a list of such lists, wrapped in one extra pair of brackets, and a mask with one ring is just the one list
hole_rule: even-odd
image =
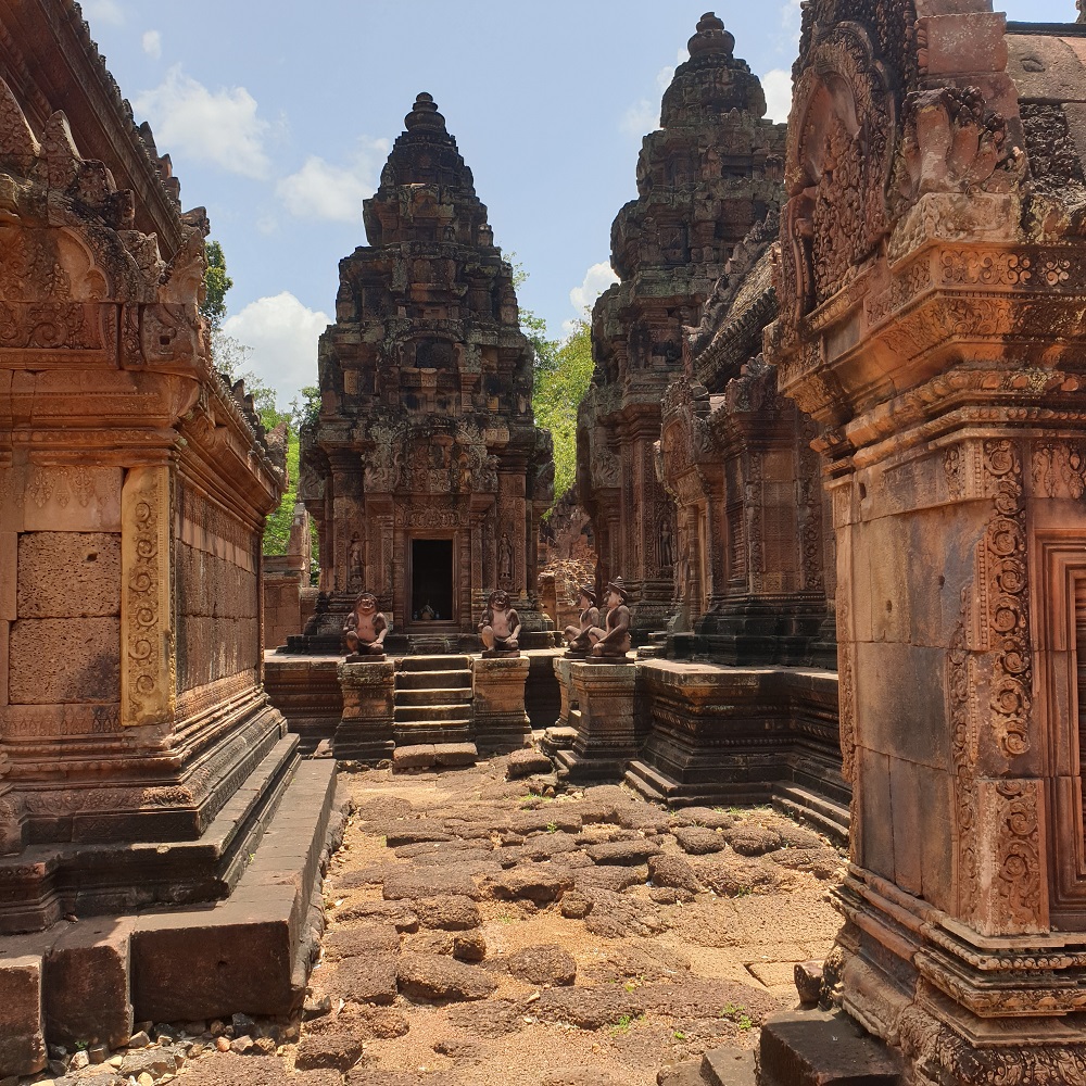
[(27, 532), (20, 536), (20, 618), (119, 614), (119, 535)]

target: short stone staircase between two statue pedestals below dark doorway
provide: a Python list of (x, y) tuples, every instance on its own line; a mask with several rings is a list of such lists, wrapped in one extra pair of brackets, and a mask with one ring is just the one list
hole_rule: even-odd
[(392, 769), (470, 765), (471, 660), (467, 656), (405, 656), (396, 667)]

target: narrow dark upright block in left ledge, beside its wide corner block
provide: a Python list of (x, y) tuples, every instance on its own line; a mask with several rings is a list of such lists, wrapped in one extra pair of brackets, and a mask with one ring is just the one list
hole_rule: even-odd
[(132, 1032), (128, 984), (131, 920), (74, 925), (46, 957), (46, 1022), (50, 1044), (127, 1044)]

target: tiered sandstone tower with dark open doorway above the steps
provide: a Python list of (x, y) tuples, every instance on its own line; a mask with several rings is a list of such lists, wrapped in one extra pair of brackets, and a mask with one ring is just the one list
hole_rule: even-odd
[(320, 341), (302, 492), (321, 594), (292, 647), (338, 651), (363, 589), (393, 636), (416, 645), (473, 647), (495, 586), (526, 631), (542, 630), (535, 541), (554, 466), (532, 416), (513, 273), (429, 94), (405, 124), (366, 201), (370, 244), (342, 261), (337, 321)]

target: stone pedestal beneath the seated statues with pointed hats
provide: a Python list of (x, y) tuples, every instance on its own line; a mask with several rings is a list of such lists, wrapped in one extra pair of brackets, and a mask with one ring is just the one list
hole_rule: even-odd
[(621, 776), (644, 737), (634, 708), (636, 666), (559, 660), (555, 668), (559, 679), (568, 669), (563, 709), (576, 731), (572, 749), (557, 753), (559, 772), (571, 781)]

